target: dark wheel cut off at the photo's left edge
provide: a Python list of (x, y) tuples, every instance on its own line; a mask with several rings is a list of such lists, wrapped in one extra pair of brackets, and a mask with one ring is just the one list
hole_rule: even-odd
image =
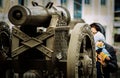
[(0, 21), (0, 77), (13, 78), (11, 69), (10, 29), (6, 22)]

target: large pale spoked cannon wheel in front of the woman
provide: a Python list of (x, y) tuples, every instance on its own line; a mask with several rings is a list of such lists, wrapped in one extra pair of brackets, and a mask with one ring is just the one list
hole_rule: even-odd
[(95, 45), (87, 24), (74, 27), (67, 55), (67, 78), (95, 78)]

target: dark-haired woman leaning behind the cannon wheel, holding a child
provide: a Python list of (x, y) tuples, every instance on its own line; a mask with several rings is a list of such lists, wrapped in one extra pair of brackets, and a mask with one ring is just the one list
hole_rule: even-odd
[[(104, 28), (101, 27), (102, 26), (101, 24), (92, 23), (90, 26), (91, 26), (91, 31), (94, 35), (95, 42), (97, 42), (99, 39), (103, 40), (104, 45), (105, 45), (105, 49), (109, 52), (109, 54), (111, 56), (110, 60), (106, 62), (106, 66), (102, 67), (103, 72), (101, 74), (99, 74), (99, 75), (102, 75), (102, 76), (98, 77), (98, 78), (102, 78), (102, 77), (110, 78), (110, 73), (113, 72), (113, 71), (114, 72), (117, 71), (117, 68), (118, 68), (117, 58), (116, 58), (116, 54), (115, 54), (116, 51), (111, 45), (109, 45), (105, 42), (105, 37), (104, 37), (105, 31), (104, 31)], [(100, 51), (100, 49), (98, 51)], [(101, 49), (101, 51), (102, 51), (102, 49)], [(97, 65), (97, 63), (96, 63), (96, 65)]]

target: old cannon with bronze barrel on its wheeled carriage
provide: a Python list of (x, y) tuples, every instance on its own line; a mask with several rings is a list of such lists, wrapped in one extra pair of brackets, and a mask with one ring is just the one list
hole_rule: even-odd
[(14, 24), (9, 39), (12, 43), (2, 47), (10, 49), (11, 75), (18, 73), (18, 78), (24, 78), (27, 71), (35, 70), (35, 78), (96, 77), (90, 26), (71, 21), (66, 8), (54, 7), (52, 2), (45, 7), (36, 3), (33, 7), (15, 5), (8, 18)]

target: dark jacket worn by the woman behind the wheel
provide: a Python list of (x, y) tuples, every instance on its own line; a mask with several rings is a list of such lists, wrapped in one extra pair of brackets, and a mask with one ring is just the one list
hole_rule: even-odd
[(117, 57), (116, 57), (116, 51), (111, 45), (105, 43), (105, 48), (112, 57), (111, 60), (107, 62), (107, 66), (103, 68), (103, 73), (104, 73), (104, 78), (110, 78), (110, 73), (114, 73), (118, 69)]

